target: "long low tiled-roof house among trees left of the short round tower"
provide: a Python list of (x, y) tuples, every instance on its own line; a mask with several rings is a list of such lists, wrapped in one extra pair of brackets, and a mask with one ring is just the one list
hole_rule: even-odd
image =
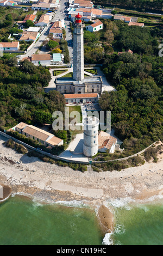
[(41, 130), (33, 125), (28, 125), (23, 122), (16, 125), (10, 130), (17, 131), (26, 137), (30, 137), (37, 142), (45, 145), (46, 147), (55, 147), (55, 145), (62, 145), (64, 141), (55, 137), (52, 133)]

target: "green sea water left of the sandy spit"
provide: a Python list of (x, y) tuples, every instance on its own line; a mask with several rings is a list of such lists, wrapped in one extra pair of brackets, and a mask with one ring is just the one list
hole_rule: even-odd
[(21, 196), (0, 204), (0, 245), (101, 245), (94, 211)]

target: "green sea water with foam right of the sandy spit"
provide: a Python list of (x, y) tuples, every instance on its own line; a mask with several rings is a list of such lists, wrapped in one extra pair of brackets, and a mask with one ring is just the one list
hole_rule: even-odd
[[(163, 245), (163, 201), (114, 207), (115, 231), (108, 245)], [(105, 237), (106, 238), (106, 237)]]

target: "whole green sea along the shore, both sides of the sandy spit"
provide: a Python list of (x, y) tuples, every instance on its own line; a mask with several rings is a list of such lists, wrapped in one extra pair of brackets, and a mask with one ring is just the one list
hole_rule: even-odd
[(115, 230), (104, 234), (96, 210), (82, 202), (39, 202), (15, 194), (0, 204), (0, 245), (163, 245), (163, 199), (105, 202)]

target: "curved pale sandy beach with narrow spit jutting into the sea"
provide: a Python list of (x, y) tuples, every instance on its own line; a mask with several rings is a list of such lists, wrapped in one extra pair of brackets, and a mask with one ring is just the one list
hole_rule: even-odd
[(106, 229), (114, 229), (114, 217), (104, 207), (108, 200), (142, 200), (163, 194), (163, 154), (158, 156), (157, 163), (150, 161), (121, 172), (96, 173), (89, 168), (82, 173), (18, 154), (3, 145), (6, 140), (1, 136), (1, 184), (9, 186), (12, 193), (30, 194), (46, 202), (76, 200), (99, 208), (98, 216)]

